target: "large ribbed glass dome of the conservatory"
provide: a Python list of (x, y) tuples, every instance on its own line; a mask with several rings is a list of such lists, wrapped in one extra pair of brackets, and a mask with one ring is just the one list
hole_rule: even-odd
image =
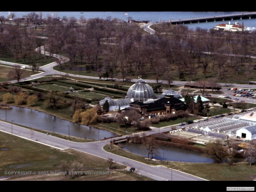
[(130, 87), (125, 98), (145, 102), (148, 99), (155, 99), (156, 97), (152, 87), (146, 84), (146, 81), (143, 79), (139, 79)]

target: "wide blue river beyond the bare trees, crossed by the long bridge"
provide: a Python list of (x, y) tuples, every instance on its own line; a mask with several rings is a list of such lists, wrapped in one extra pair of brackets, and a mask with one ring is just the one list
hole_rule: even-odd
[[(28, 15), (31, 12), (10, 12), (14, 13), (16, 17), (23, 17)], [(198, 18), (198, 17), (206, 17), (206, 16), (219, 16), (219, 15), (227, 15), (234, 14), (240, 12), (36, 12), (36, 14), (40, 15), (42, 13), (42, 18), (50, 17), (60, 17), (66, 16), (75, 17), (77, 20), (83, 16), (86, 20), (90, 18), (102, 18), (107, 19), (107, 17), (118, 18), (120, 20), (126, 21), (128, 17), (133, 20), (148, 20), (149, 22), (159, 22), (161, 21), (169, 21), (171, 20), (181, 20), (181, 19), (189, 19), (189, 18)], [(9, 12), (0, 12), (0, 15), (3, 15), (5, 18), (8, 17)], [(244, 19), (237, 20), (242, 24), (244, 22), (245, 27), (256, 27), (256, 19)], [(185, 24), (189, 28), (195, 29), (197, 27), (211, 29), (218, 24), (227, 23), (228, 21), (218, 21), (218, 22), (204, 22), (204, 23), (193, 23), (193, 24)], [(235, 22), (235, 21), (233, 21)]]

